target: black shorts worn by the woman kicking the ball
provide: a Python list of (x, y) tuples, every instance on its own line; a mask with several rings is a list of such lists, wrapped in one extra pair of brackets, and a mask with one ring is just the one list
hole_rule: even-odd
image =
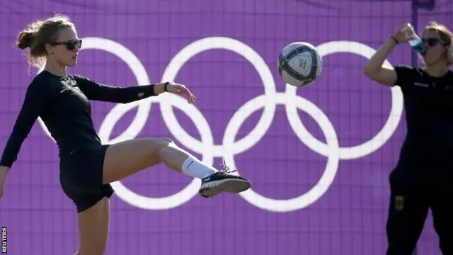
[(60, 156), (60, 184), (78, 213), (113, 195), (112, 186), (102, 181), (107, 148), (108, 145), (88, 145)]

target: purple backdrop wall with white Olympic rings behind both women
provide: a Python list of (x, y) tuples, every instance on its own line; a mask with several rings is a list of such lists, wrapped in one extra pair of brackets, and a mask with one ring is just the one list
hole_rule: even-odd
[[(418, 11), (418, 29), (433, 19), (453, 26), (453, 2), (437, 4)], [(172, 137), (253, 180), (253, 191), (210, 200), (194, 196), (197, 181), (163, 166), (115, 183), (107, 254), (384, 254), (402, 97), (362, 67), (411, 22), (408, 1), (1, 0), (1, 149), (36, 73), (28, 75), (15, 36), (52, 12), (71, 16), (85, 40), (71, 73), (120, 86), (174, 79), (198, 98), (196, 106), (170, 96), (93, 102), (104, 142)], [(297, 40), (319, 47), (324, 69), (294, 96), (276, 60)], [(389, 61), (410, 64), (410, 55), (402, 45)], [(57, 147), (37, 122), (0, 200), (10, 254), (76, 251), (76, 213), (58, 175)], [(419, 254), (438, 254), (427, 226)]]

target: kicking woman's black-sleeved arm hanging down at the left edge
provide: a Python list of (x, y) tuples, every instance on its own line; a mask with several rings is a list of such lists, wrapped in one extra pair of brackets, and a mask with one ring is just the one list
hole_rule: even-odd
[(1, 156), (0, 166), (11, 168), (16, 161), (23, 141), (28, 137), (47, 98), (50, 97), (50, 93), (46, 86), (47, 84), (42, 84), (39, 81), (33, 81), (30, 86), (28, 86), (21, 111), (13, 126), (13, 131), (9, 136), (8, 142), (6, 142), (3, 155)]

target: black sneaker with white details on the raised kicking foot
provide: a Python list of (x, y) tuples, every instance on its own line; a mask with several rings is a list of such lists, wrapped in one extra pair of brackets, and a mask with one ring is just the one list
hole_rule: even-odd
[(219, 193), (241, 193), (248, 190), (251, 186), (251, 182), (241, 176), (235, 176), (229, 173), (233, 173), (237, 170), (231, 171), (228, 166), (223, 164), (224, 169), (218, 171), (215, 174), (207, 176), (201, 180), (201, 187), (198, 193), (203, 198), (212, 198), (217, 196)]

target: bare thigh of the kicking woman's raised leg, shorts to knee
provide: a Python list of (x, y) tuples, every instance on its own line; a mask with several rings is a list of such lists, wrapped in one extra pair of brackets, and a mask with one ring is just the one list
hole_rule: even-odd
[(161, 163), (157, 152), (170, 143), (168, 138), (138, 138), (110, 145), (105, 152), (103, 183), (124, 179)]

